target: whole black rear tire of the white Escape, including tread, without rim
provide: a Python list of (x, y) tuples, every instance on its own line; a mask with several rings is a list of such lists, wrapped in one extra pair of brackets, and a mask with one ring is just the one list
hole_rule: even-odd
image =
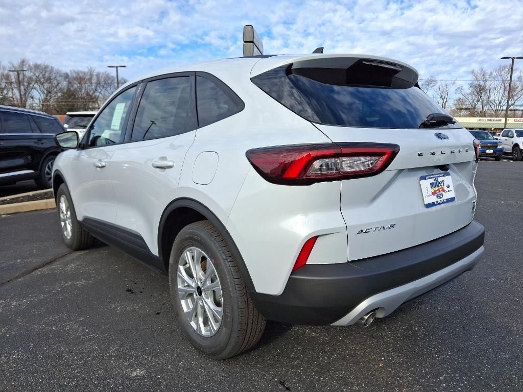
[[(212, 336), (200, 335), (189, 324), (178, 294), (180, 258), (190, 247), (201, 249), (213, 261), (221, 286), (222, 319)], [(254, 307), (229, 247), (209, 221), (184, 227), (174, 240), (169, 259), (169, 286), (181, 328), (190, 342), (211, 358), (226, 359), (238, 355), (253, 347), (263, 335), (266, 319)]]

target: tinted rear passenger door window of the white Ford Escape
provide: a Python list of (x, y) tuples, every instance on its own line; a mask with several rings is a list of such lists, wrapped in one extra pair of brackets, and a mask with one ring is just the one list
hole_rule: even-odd
[(148, 82), (138, 106), (131, 141), (179, 135), (196, 129), (190, 76)]

